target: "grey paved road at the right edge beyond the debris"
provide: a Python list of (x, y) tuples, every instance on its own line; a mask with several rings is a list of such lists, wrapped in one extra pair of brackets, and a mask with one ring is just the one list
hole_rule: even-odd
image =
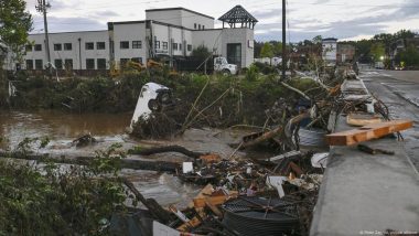
[(419, 71), (362, 71), (359, 77), (387, 104), (394, 119), (413, 120), (413, 128), (404, 132), (405, 149), (419, 169)]

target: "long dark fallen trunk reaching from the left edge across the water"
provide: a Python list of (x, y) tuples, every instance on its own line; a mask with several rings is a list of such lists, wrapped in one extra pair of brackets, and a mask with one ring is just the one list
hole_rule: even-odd
[[(22, 160), (34, 160), (34, 161), (52, 161), (54, 163), (63, 164), (79, 164), (88, 165), (92, 163), (94, 157), (49, 157), (47, 154), (25, 154), (21, 152), (6, 152), (0, 151), (0, 158), (11, 158), (11, 159), (22, 159)], [(166, 171), (176, 172), (180, 168), (179, 163), (166, 162), (166, 161), (143, 161), (135, 159), (121, 159), (120, 167), (122, 169), (132, 170), (148, 170), (148, 171)]]

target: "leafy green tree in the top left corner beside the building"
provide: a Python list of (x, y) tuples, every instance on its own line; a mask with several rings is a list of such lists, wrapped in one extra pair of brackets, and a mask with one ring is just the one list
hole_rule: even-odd
[(23, 46), (28, 42), (28, 32), (32, 30), (32, 17), (24, 0), (0, 1), (0, 42), (4, 43), (22, 60)]

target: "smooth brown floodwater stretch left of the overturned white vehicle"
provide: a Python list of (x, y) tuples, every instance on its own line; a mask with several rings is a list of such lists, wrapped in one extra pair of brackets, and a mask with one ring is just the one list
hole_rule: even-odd
[(24, 138), (49, 137), (74, 140), (86, 133), (118, 140), (129, 125), (130, 114), (65, 114), (61, 111), (0, 111), (1, 148), (15, 147)]

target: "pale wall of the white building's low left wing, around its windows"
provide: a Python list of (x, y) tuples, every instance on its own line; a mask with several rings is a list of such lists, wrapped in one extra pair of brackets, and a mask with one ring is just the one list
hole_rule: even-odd
[[(88, 32), (69, 32), (69, 33), (51, 33), (50, 34), (50, 54), (51, 61), (55, 64), (55, 60), (62, 60), (63, 65), (65, 60), (73, 60), (74, 69), (86, 69), (86, 58), (95, 60), (95, 68), (97, 68), (97, 60), (105, 58), (109, 62), (109, 40), (108, 31), (88, 31)], [(31, 44), (41, 44), (41, 51), (26, 52), (24, 61), (31, 60), (35, 65), (35, 60), (42, 60), (43, 65), (47, 63), (46, 47), (45, 47), (45, 35), (44, 34), (31, 34), (28, 39)], [(94, 43), (94, 50), (86, 50), (86, 43)], [(97, 42), (104, 42), (105, 49), (97, 50)], [(64, 44), (71, 43), (72, 49), (65, 50)], [(61, 51), (54, 50), (54, 44), (61, 44)], [(22, 68), (26, 68), (26, 65)], [(109, 65), (107, 64), (107, 67)]]

